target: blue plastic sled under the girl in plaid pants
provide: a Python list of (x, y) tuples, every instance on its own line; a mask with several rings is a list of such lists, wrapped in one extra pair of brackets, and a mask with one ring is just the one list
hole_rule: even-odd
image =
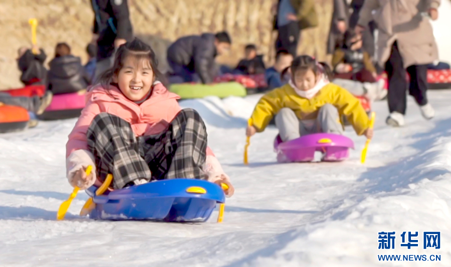
[(93, 219), (202, 222), (225, 201), (220, 186), (197, 179), (153, 181), (97, 196), (96, 189), (86, 190), (96, 204)]

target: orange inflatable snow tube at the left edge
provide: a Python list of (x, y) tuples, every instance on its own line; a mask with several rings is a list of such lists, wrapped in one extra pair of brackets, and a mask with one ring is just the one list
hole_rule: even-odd
[(0, 132), (20, 131), (27, 128), (30, 116), (27, 109), (0, 103)]

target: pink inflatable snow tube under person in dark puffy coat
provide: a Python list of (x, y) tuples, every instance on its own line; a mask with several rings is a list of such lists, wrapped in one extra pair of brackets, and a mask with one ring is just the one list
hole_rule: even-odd
[(43, 120), (55, 120), (78, 117), (85, 107), (85, 93), (82, 90), (74, 93), (57, 94), (44, 113), (39, 115)]

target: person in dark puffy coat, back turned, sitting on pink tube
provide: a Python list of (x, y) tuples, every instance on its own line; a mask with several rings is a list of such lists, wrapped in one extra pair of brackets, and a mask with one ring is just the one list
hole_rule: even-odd
[(55, 58), (49, 63), (47, 90), (53, 94), (77, 92), (91, 83), (81, 59), (71, 54), (71, 47), (65, 43), (58, 43), (55, 48)]

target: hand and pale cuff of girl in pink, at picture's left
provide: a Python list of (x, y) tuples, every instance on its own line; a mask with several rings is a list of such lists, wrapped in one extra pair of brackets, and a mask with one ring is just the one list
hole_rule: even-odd
[[(84, 171), (89, 165), (92, 166), (91, 174), (86, 176)], [(78, 186), (81, 190), (92, 186), (96, 181), (94, 155), (84, 149), (73, 151), (66, 158), (66, 177), (72, 186)]]

